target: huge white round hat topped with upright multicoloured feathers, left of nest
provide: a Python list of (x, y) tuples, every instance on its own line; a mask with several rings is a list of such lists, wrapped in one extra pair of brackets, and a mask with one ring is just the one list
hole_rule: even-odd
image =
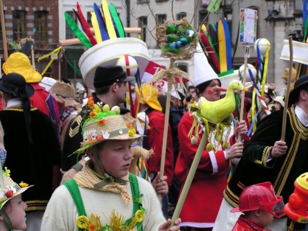
[[(102, 0), (102, 11), (94, 3), (91, 12), (91, 23), (94, 35), (89, 27), (79, 3), (77, 3), (76, 13), (82, 29), (74, 22), (72, 17), (65, 12), (65, 20), (76, 37), (87, 48), (79, 60), (79, 67), (85, 85), (94, 89), (93, 78), (95, 69), (98, 66), (117, 65), (118, 60), (124, 55), (129, 55), (138, 64), (137, 82), (140, 80), (144, 69), (149, 62), (147, 45), (138, 38), (125, 37), (124, 27), (119, 18), (118, 12), (113, 4), (107, 4), (107, 0)], [(123, 69), (129, 69), (127, 61)], [(129, 72), (129, 71), (128, 71)], [(133, 75), (133, 74), (132, 74)], [(140, 81), (139, 81), (140, 82)]]

